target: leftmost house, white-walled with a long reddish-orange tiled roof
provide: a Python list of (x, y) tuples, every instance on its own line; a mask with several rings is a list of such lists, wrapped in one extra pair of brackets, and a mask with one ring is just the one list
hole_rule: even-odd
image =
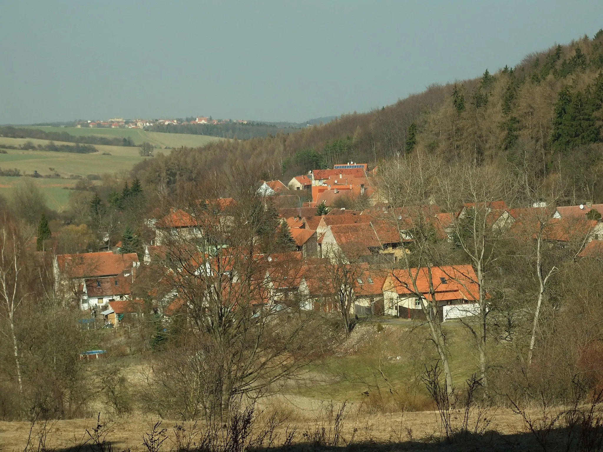
[(81, 309), (90, 309), (115, 296), (129, 297), (126, 280), (134, 280), (139, 265), (136, 253), (58, 254), (53, 262), (55, 290), (66, 290)]

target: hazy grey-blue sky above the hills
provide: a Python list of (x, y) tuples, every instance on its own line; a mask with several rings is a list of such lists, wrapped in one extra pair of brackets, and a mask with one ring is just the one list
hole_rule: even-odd
[(305, 121), (493, 72), (602, 27), (601, 0), (0, 0), (0, 124)]

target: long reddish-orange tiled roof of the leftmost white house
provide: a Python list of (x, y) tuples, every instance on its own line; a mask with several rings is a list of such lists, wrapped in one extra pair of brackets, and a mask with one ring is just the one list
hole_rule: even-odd
[(104, 253), (58, 254), (58, 270), (68, 278), (95, 278), (119, 275), (125, 269), (132, 268), (138, 262), (136, 253), (113, 254)]

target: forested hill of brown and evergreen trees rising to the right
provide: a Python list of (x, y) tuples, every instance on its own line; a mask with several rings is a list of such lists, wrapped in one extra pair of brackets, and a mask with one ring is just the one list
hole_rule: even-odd
[[(507, 159), (529, 165), (535, 177), (575, 160), (582, 189), (601, 199), (596, 168), (603, 165), (603, 31), (569, 45), (534, 52), (514, 67), (473, 80), (432, 85), (380, 110), (343, 115), (324, 125), (249, 140), (175, 149), (140, 165), (148, 181), (173, 184), (213, 169), (245, 163), (266, 177), (289, 178), (349, 160), (377, 163), (412, 151), (449, 158)], [(570, 174), (569, 177), (578, 177)], [(596, 193), (595, 193), (596, 192)]]

